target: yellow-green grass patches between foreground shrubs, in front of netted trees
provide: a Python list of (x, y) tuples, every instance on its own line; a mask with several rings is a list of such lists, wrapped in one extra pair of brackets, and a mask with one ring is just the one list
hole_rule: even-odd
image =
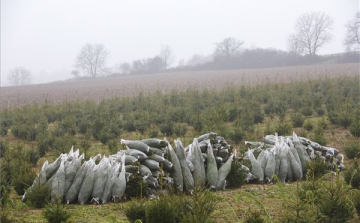
[[(299, 185), (301, 182), (299, 183)], [(297, 191), (297, 184), (282, 185), (245, 185), (238, 189), (228, 189), (216, 192), (218, 198), (217, 208), (212, 214), (216, 222), (242, 222), (251, 211), (261, 211), (266, 222), (278, 222), (283, 211), (283, 203), (291, 199)], [(108, 203), (105, 205), (77, 205), (71, 204), (65, 207), (70, 211), (69, 222), (128, 222), (124, 214), (124, 208), (129, 201), (120, 203)], [(21, 203), (19, 196), (13, 196), (13, 204), (9, 210), (9, 217), (14, 222), (40, 223), (46, 222), (41, 209), (29, 208)], [(359, 222), (359, 216), (351, 222)]]

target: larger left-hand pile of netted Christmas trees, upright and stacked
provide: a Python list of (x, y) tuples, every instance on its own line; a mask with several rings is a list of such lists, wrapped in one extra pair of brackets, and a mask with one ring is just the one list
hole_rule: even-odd
[(216, 133), (195, 138), (187, 147), (179, 139), (174, 147), (166, 139), (122, 139), (121, 144), (126, 149), (108, 157), (98, 154), (84, 161), (84, 154), (72, 148), (51, 164), (46, 161), (27, 192), (39, 184), (48, 185), (52, 201), (104, 204), (126, 196), (126, 184), (133, 174), (147, 182), (150, 196), (161, 188), (160, 179), (189, 193), (195, 187), (222, 189), (234, 158), (231, 146)]

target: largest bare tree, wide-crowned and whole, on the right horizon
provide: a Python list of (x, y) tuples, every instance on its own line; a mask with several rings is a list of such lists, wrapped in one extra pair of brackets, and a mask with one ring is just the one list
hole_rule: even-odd
[(332, 35), (333, 19), (323, 12), (310, 12), (301, 15), (295, 23), (295, 33), (288, 37), (289, 51), (316, 55), (328, 43)]

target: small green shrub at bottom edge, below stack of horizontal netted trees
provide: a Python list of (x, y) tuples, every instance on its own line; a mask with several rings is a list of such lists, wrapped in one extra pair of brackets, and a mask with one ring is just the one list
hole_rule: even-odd
[(134, 223), (136, 220), (146, 223), (145, 209), (146, 204), (144, 200), (132, 200), (125, 207), (125, 216), (131, 223)]

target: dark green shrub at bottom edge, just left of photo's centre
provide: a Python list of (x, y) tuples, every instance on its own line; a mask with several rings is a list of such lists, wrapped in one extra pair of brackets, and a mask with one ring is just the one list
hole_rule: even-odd
[(178, 215), (177, 207), (163, 198), (150, 201), (145, 209), (147, 223), (175, 223)]

